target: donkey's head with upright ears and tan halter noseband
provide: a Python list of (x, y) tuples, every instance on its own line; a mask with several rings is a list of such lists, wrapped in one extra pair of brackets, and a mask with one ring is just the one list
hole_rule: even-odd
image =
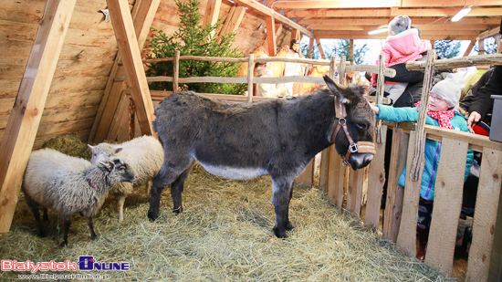
[(339, 101), (335, 106), (338, 124), (332, 137), (335, 149), (353, 170), (363, 168), (370, 164), (375, 152), (375, 115), (362, 97), (361, 87), (341, 86), (328, 76), (324, 76), (324, 81)]

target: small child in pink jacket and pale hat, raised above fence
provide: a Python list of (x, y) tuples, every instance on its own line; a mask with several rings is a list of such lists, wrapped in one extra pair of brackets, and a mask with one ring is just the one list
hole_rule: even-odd
[[(432, 48), (428, 40), (422, 40), (418, 35), (418, 29), (412, 28), (412, 20), (409, 16), (396, 16), (389, 23), (389, 37), (382, 47), (380, 54), (385, 54), (385, 68), (393, 65), (415, 61), (422, 57), (421, 53)], [(376, 64), (379, 62), (377, 60)], [(371, 74), (371, 83), (376, 86), (376, 74)], [(398, 99), (406, 89), (407, 83), (385, 81), (387, 98), (392, 102)]]

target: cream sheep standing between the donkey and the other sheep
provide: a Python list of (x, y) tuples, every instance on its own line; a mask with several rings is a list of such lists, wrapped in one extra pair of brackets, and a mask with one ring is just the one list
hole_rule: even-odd
[(163, 149), (161, 142), (152, 136), (144, 135), (121, 144), (99, 143), (96, 146), (89, 145), (92, 151), (90, 162), (96, 163), (113, 156), (119, 156), (131, 166), (132, 172), (138, 181), (131, 183), (119, 183), (111, 193), (117, 197), (119, 220), (124, 219), (124, 202), (133, 188), (146, 184), (146, 191), (150, 190), (152, 178), (157, 175), (163, 162)]

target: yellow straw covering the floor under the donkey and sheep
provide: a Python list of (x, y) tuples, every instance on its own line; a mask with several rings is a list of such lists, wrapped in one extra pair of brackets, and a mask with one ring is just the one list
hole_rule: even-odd
[[(161, 216), (149, 222), (149, 198), (137, 190), (126, 200), (123, 222), (117, 221), (115, 202), (107, 201), (95, 219), (96, 241), (89, 239), (85, 218), (75, 214), (67, 248), (57, 245), (61, 237), (54, 214), (45, 226), (47, 237), (35, 235), (33, 215), (21, 195), (11, 231), (0, 235), (0, 256), (21, 262), (77, 262), (78, 256), (130, 262), (129, 271), (106, 272), (112, 280), (126, 281), (453, 280), (395, 251), (316, 188), (295, 187), (289, 214), (296, 228), (288, 239), (277, 239), (271, 195), (270, 177), (228, 181), (195, 166), (185, 183), (182, 214), (171, 213), (166, 191)], [(1, 272), (0, 280), (18, 274), (28, 273)]]

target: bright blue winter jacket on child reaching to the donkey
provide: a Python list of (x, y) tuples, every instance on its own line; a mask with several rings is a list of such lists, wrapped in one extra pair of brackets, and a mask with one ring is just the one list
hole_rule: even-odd
[[(380, 114), (376, 116), (379, 120), (389, 121), (410, 121), (418, 120), (418, 110), (416, 108), (393, 108), (390, 106), (376, 105), (380, 109)], [(455, 111), (455, 116), (450, 120), (454, 130), (469, 132), (465, 117)], [(427, 116), (426, 124), (439, 126), (439, 121)], [(441, 142), (429, 140), (425, 141), (425, 167), (422, 174), (422, 184), (420, 188), (420, 196), (425, 200), (434, 199), (435, 176), (437, 174), (437, 166), (441, 152)], [(472, 150), (467, 151), (467, 161), (465, 163), (465, 179), (471, 170), (474, 153)], [(406, 169), (404, 169), (398, 183), (404, 186), (406, 180)]]

